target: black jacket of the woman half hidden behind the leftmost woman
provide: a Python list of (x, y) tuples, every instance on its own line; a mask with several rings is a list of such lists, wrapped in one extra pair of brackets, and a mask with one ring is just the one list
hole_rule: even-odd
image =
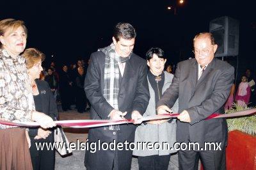
[[(50, 116), (53, 120), (55, 120), (55, 118), (58, 118), (58, 109), (48, 82), (36, 80), (36, 85), (42, 101), (42, 112), (44, 112), (44, 114)], [(38, 153), (34, 146), (35, 144), (33, 144), (35, 143), (35, 141), (53, 142), (53, 132), (46, 139), (35, 140), (34, 137), (37, 135), (37, 133), (38, 128), (29, 128), (29, 136), (31, 138), (31, 155), (35, 155)]]

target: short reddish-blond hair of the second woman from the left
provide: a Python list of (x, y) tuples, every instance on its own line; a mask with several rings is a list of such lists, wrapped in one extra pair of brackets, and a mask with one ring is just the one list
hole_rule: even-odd
[(45, 54), (35, 48), (26, 49), (21, 56), (26, 59), (26, 67), (28, 69), (32, 68), (38, 61), (41, 60), (43, 62), (45, 59)]

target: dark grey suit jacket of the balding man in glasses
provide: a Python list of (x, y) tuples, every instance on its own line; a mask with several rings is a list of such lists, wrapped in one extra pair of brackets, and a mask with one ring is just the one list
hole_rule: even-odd
[(191, 123), (177, 121), (178, 142), (227, 143), (225, 119), (204, 120), (214, 112), (224, 113), (223, 104), (230, 93), (234, 80), (234, 68), (214, 58), (198, 80), (196, 59), (182, 61), (172, 81), (157, 106), (172, 107), (179, 97), (179, 112), (188, 111)]

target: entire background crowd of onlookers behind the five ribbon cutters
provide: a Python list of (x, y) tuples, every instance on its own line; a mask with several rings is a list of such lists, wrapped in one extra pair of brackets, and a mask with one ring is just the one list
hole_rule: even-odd
[[(86, 69), (90, 59), (77, 60), (76, 64), (58, 65), (51, 62), (50, 66), (43, 67), (44, 70), (40, 75), (40, 80), (47, 81), (51, 87), (52, 93), (56, 101), (61, 103), (63, 111), (71, 109), (71, 105), (75, 105), (78, 112), (83, 113), (90, 109), (90, 102), (86, 99), (84, 93), (84, 79)], [(168, 73), (175, 73), (175, 65), (166, 63), (164, 70)], [(256, 104), (255, 95), (255, 74), (247, 68), (244, 73), (238, 77), (237, 83), (234, 82), (230, 95), (225, 104), (225, 110), (237, 104), (243, 107), (253, 107)]]

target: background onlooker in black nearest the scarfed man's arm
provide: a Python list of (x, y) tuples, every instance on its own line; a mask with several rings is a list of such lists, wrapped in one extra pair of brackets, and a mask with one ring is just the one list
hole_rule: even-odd
[(84, 68), (79, 66), (77, 68), (77, 77), (76, 77), (76, 107), (77, 112), (83, 113), (86, 108), (86, 96), (84, 92)]

